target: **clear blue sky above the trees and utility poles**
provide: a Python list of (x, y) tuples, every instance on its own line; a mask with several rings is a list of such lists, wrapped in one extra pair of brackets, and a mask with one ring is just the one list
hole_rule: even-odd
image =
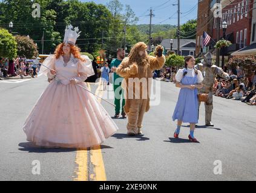
[[(83, 2), (90, 2), (91, 0), (81, 0)], [(96, 4), (106, 5), (106, 0), (94, 0)], [(150, 7), (153, 8), (153, 24), (171, 24), (177, 25), (177, 0), (120, 0), (122, 4), (131, 5), (131, 8), (139, 17), (137, 24), (149, 24)], [(184, 24), (189, 19), (197, 18), (197, 2), (198, 0), (180, 0), (180, 23)], [(160, 6), (162, 5), (162, 6)], [(147, 11), (148, 10), (148, 11)], [(171, 17), (171, 19), (169, 19)]]

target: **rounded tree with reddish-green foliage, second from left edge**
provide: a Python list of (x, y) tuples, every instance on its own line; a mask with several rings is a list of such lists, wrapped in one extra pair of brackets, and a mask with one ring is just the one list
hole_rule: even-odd
[(38, 56), (38, 47), (32, 39), (27, 36), (15, 36), (16, 42), (18, 43), (18, 55), (25, 55), (28, 59)]

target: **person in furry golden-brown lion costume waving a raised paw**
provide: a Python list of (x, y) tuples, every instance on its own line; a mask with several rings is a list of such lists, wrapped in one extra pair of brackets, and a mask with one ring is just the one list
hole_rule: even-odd
[(144, 42), (136, 43), (118, 68), (112, 69), (123, 77), (122, 87), (125, 90), (123, 109), (128, 117), (126, 128), (129, 136), (142, 134), (143, 116), (150, 107), (149, 92), (153, 71), (162, 68), (165, 64), (162, 46), (156, 47), (156, 57), (148, 55), (146, 49), (147, 45)]

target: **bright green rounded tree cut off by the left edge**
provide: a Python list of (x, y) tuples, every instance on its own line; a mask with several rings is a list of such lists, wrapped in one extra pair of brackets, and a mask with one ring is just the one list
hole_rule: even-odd
[(13, 58), (17, 55), (17, 42), (15, 37), (7, 30), (0, 28), (0, 56)]

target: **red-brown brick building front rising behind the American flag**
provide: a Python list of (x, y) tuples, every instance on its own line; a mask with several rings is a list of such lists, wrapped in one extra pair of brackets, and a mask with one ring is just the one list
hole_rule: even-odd
[[(226, 48), (226, 55), (238, 49), (250, 45), (253, 28), (252, 8), (256, 0), (222, 0), (222, 18), (220, 19), (220, 39), (223, 37), (222, 22), (228, 23), (226, 29), (226, 39), (232, 42), (232, 45)], [(195, 54), (205, 53), (213, 48), (214, 42), (203, 48), (203, 31), (209, 34), (217, 42), (217, 19), (214, 17), (214, 5), (217, 0), (199, 0), (197, 13), (197, 45)], [(256, 23), (256, 22), (255, 22)], [(255, 24), (256, 25), (256, 24)], [(256, 29), (255, 29), (256, 30)], [(256, 38), (256, 37), (255, 37)], [(221, 53), (222, 54), (222, 53)]]

